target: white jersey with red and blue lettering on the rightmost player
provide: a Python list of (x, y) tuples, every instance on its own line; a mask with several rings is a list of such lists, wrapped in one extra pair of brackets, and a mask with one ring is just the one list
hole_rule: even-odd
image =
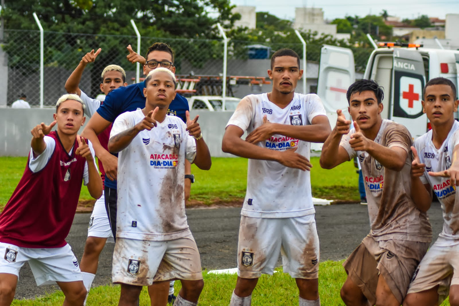
[[(432, 130), (414, 141), (419, 160), (425, 163), (425, 172), (421, 177), (423, 184), (430, 184), (442, 205), (443, 230), (439, 236), (444, 237), (445, 243), (459, 239), (459, 203), (456, 204), (456, 189), (450, 185), (449, 178), (433, 177), (427, 172), (440, 172), (451, 166), (454, 146), (459, 143), (459, 122), (454, 121), (448, 137), (437, 149), (432, 143)], [(459, 241), (458, 241), (459, 242)]]

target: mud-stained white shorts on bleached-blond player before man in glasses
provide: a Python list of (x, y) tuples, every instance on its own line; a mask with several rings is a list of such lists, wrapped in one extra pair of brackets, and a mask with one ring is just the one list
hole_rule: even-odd
[(113, 283), (149, 286), (153, 281), (202, 279), (201, 257), (193, 235), (167, 241), (117, 238)]

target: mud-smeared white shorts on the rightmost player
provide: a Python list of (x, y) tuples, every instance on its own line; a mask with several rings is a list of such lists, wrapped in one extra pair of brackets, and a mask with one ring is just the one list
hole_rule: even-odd
[(434, 288), (438, 285), (438, 305), (449, 294), (451, 285), (459, 285), (459, 244), (447, 245), (442, 237), (422, 258), (414, 272), (408, 293), (416, 293)]

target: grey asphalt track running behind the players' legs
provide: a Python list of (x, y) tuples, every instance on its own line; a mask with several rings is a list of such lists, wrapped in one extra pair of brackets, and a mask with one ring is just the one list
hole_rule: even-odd
[[(315, 206), (320, 239), (320, 259), (346, 258), (369, 232), (367, 206), (339, 204)], [(187, 210), (188, 223), (201, 253), (202, 268), (207, 270), (236, 267), (237, 238), (241, 208), (211, 208)], [(442, 211), (433, 203), (429, 211), (434, 240), (442, 230)], [(67, 237), (73, 252), (81, 259), (87, 236), (90, 214), (77, 214)], [(99, 268), (93, 285), (111, 283), (114, 244), (107, 244), (101, 253)], [(280, 261), (278, 262), (281, 264)], [(37, 287), (26, 263), (21, 269), (16, 297), (33, 298), (58, 289), (57, 286)]]

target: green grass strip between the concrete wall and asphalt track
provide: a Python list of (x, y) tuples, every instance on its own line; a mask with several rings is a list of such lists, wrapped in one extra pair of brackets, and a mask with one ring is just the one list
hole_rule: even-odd
[[(22, 177), (27, 162), (26, 157), (0, 157), (4, 167), (0, 169), (0, 211), (16, 188)], [(329, 200), (358, 201), (358, 175), (353, 162), (325, 170), (319, 166), (319, 158), (312, 157), (311, 185), (313, 196)], [(244, 198), (247, 183), (247, 159), (223, 158), (212, 159), (209, 171), (192, 165), (196, 183), (191, 188), (191, 200), (204, 204), (216, 202), (234, 202)], [(91, 200), (88, 189), (81, 189), (80, 200)]]

